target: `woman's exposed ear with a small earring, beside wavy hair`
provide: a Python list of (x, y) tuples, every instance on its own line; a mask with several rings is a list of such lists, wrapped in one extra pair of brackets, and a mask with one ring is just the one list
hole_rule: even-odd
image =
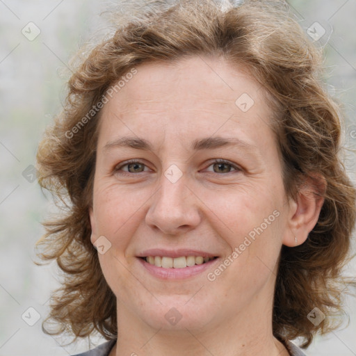
[(289, 229), (284, 234), (284, 245), (293, 247), (307, 240), (309, 232), (318, 222), (326, 187), (327, 183), (322, 175), (313, 174), (305, 178), (296, 200), (289, 202)]

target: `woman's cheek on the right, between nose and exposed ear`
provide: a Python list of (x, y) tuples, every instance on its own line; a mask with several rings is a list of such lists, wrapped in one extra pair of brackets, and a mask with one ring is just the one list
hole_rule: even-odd
[(283, 196), (277, 184), (266, 181), (211, 192), (209, 221), (229, 245), (231, 254), (235, 252), (234, 256), (225, 256), (234, 261), (232, 283), (254, 289), (275, 268), (282, 246)]

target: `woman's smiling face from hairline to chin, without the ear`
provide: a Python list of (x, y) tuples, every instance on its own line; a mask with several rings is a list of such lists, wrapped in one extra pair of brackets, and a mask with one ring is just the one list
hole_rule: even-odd
[(218, 58), (136, 70), (102, 109), (90, 209), (118, 318), (165, 330), (270, 323), (293, 212), (264, 89)]

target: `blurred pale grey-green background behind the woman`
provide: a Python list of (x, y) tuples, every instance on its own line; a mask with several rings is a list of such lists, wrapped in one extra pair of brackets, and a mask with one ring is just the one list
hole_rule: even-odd
[[(0, 0), (0, 356), (66, 356), (104, 342), (92, 337), (69, 346), (44, 334), (56, 266), (35, 266), (40, 222), (54, 211), (35, 180), (35, 152), (44, 128), (65, 97), (67, 63), (92, 35), (105, 29), (104, 10), (120, 1)], [(289, 0), (293, 16), (325, 51), (330, 94), (344, 104), (343, 143), (356, 149), (355, 0)], [(356, 183), (356, 157), (345, 152)], [(355, 246), (355, 244), (354, 244)], [(356, 262), (346, 270), (356, 275)], [(356, 299), (348, 298), (350, 323), (316, 337), (309, 356), (356, 355)], [(296, 341), (298, 343), (298, 340)]]

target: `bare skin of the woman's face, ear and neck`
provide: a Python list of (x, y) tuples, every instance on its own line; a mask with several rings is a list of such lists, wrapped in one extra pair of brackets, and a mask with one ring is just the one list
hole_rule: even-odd
[[(102, 109), (90, 208), (92, 243), (99, 236), (111, 243), (99, 254), (118, 300), (120, 342), (110, 355), (289, 355), (272, 333), (277, 261), (283, 244), (305, 241), (323, 200), (308, 184), (296, 201), (286, 197), (271, 109), (242, 67), (193, 56), (137, 70)], [(235, 104), (243, 93), (254, 100), (246, 112)], [(145, 138), (152, 150), (104, 149), (122, 136)], [(191, 148), (216, 136), (253, 148)], [(142, 164), (124, 165), (129, 159)], [(175, 183), (164, 175), (173, 164), (182, 172)], [(220, 264), (273, 211), (280, 215), (213, 282), (207, 273), (159, 280), (136, 257), (148, 248), (192, 248)], [(165, 318), (172, 307), (181, 315), (175, 325)]]

